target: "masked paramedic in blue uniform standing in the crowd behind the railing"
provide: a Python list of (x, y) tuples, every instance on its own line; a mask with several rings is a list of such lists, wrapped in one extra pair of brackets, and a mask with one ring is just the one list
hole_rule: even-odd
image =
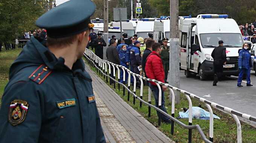
[[(128, 67), (126, 64), (126, 58), (125, 58), (125, 54), (126, 54), (126, 44), (122, 45), (122, 47), (120, 48), (119, 51), (119, 59), (120, 59), (120, 65), (124, 66), (124, 67)], [(127, 79), (128, 79), (128, 73), (125, 72), (125, 84), (127, 83)], [(120, 82), (123, 83), (123, 70), (122, 68), (120, 68)]]

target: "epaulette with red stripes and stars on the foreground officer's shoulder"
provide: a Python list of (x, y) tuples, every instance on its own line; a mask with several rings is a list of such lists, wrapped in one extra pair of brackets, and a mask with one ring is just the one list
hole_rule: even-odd
[(42, 64), (29, 76), (29, 79), (41, 84), (51, 73), (52, 71), (46, 65)]

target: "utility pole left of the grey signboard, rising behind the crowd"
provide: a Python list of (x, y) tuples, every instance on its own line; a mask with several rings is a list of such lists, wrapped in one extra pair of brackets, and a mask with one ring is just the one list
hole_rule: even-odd
[(104, 40), (107, 46), (103, 47), (103, 59), (107, 60), (106, 51), (108, 48), (108, 0), (104, 0)]

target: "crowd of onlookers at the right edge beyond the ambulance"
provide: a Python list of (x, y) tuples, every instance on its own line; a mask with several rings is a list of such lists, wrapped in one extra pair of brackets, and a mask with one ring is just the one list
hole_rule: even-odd
[(251, 24), (244, 24), (239, 26), (240, 31), (242, 33), (242, 36), (253, 36), (253, 34), (256, 34), (256, 19)]

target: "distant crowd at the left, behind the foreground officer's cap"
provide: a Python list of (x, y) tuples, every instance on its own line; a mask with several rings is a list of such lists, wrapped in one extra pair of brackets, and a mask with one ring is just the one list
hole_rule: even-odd
[(11, 42), (0, 41), (0, 52), (2, 51), (3, 46), (5, 46), (6, 50), (15, 49), (16, 46), (17, 48), (23, 48), (26, 42), (30, 40), (31, 36), (34, 36), (36, 39), (40, 40), (40, 42), (43, 42), (47, 38), (47, 32), (45, 29), (36, 29), (34, 31), (24, 30), (24, 33)]

